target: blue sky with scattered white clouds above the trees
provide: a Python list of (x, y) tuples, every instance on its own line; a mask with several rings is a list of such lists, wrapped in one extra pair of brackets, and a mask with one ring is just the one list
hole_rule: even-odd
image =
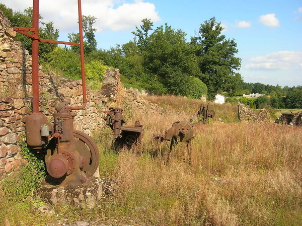
[[(40, 0), (44, 22), (53, 21), (59, 41), (78, 32), (77, 0)], [(33, 0), (0, 0), (23, 12)], [(226, 39), (234, 39), (241, 58), (238, 71), (246, 83), (302, 86), (302, 0), (82, 0), (82, 14), (96, 17), (98, 48), (109, 49), (133, 39), (144, 18), (154, 28), (167, 23), (197, 36), (200, 25), (215, 17)]]

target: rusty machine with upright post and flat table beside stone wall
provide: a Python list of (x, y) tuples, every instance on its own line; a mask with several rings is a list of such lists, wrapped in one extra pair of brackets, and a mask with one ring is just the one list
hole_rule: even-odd
[(138, 138), (143, 133), (142, 125), (139, 121), (136, 121), (134, 125), (123, 126), (126, 122), (123, 119), (123, 109), (121, 108), (109, 108), (109, 111), (102, 111), (106, 113), (106, 117), (103, 119), (113, 130), (113, 141), (110, 142), (110, 146), (130, 148), (133, 144), (137, 143)]

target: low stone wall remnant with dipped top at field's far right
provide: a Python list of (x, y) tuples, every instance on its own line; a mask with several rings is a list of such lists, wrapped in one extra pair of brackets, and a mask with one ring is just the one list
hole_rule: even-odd
[(266, 109), (260, 109), (258, 115), (255, 114), (248, 106), (238, 104), (238, 118), (241, 122), (271, 122), (270, 113)]

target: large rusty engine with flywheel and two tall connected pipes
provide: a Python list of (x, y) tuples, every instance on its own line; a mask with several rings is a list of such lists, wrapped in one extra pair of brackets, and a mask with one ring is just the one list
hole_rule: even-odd
[[(45, 153), (48, 176), (45, 183), (66, 185), (89, 182), (99, 164), (99, 151), (96, 143), (87, 134), (73, 130), (73, 117), (86, 107), (86, 83), (84, 69), (84, 45), (81, 0), (78, 0), (79, 32), (83, 85), (83, 105), (69, 106), (59, 103), (57, 113), (53, 115), (54, 123), (39, 111), (39, 42), (79, 45), (79, 43), (44, 40), (39, 37), (39, 0), (33, 0), (33, 27), (14, 27), (14, 30), (32, 39), (32, 89), (33, 112), (26, 118), (27, 144), (36, 152)], [(31, 33), (28, 33), (31, 32)]]

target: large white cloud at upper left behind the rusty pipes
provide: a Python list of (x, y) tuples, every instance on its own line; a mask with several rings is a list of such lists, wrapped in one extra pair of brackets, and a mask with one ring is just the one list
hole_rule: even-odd
[[(82, 14), (97, 18), (94, 27), (97, 32), (103, 30), (121, 31), (134, 28), (144, 18), (152, 22), (160, 21), (155, 5), (144, 3), (143, 0), (131, 1), (115, 0), (82, 0)], [(32, 0), (2, 0), (2, 3), (14, 11), (23, 12), (32, 7)], [(45, 22), (53, 21), (60, 32), (77, 31), (78, 3), (74, 0), (40, 1), (39, 11)]]

